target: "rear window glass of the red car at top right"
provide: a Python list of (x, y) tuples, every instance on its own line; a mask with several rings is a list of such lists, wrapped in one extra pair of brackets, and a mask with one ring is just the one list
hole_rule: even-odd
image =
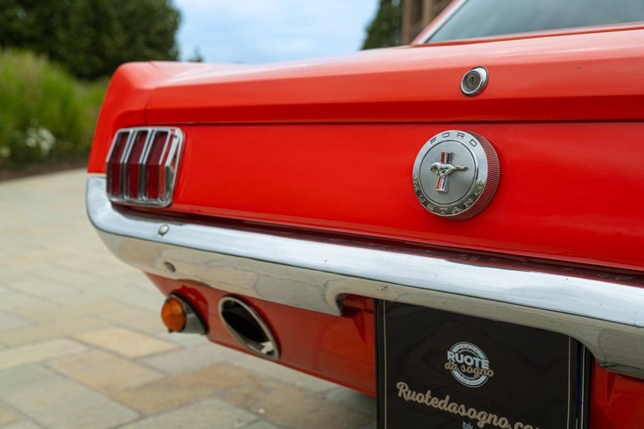
[(467, 0), (428, 42), (644, 21), (644, 0)]

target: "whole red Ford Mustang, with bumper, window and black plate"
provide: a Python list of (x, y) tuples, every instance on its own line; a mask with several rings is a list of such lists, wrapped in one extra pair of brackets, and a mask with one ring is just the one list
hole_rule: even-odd
[(171, 331), (381, 428), (644, 427), (644, 4), (457, 1), (411, 46), (133, 63), (87, 208)]

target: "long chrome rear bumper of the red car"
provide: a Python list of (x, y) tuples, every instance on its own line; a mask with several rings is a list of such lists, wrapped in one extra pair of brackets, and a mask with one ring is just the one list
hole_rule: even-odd
[(639, 277), (177, 223), (124, 214), (105, 189), (104, 178), (88, 179), (91, 223), (117, 257), (146, 272), (330, 315), (353, 294), (538, 327), (573, 336), (607, 369), (644, 377)]

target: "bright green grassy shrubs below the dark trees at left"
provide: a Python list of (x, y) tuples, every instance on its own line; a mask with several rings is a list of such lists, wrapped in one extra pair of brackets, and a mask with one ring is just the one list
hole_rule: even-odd
[(28, 51), (0, 50), (0, 168), (86, 158), (107, 84), (76, 80)]

